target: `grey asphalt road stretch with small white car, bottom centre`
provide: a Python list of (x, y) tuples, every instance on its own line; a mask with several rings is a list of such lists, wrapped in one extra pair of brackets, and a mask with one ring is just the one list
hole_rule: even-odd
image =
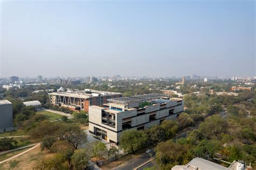
[[(156, 153), (154, 153), (154, 151), (152, 150), (151, 154), (154, 156)], [(145, 153), (134, 158), (133, 168), (136, 168), (136, 167), (144, 164), (145, 162), (149, 161), (151, 158), (152, 157), (150, 156), (150, 154), (146, 153), (146, 151), (145, 151)], [(131, 156), (131, 160), (129, 160), (129, 162), (127, 164), (120, 165), (120, 166), (114, 168), (114, 170), (132, 170), (132, 156)]]

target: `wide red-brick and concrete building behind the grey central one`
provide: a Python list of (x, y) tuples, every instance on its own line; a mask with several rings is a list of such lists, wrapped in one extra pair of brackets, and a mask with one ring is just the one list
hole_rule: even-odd
[(107, 99), (122, 97), (122, 93), (85, 89), (84, 91), (67, 91), (49, 93), (50, 103), (60, 107), (69, 107), (75, 111), (89, 111), (91, 105), (103, 105)]

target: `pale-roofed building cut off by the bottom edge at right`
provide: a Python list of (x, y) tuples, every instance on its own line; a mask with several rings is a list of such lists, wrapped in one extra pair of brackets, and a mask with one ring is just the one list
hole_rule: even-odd
[(194, 158), (186, 165), (176, 165), (172, 170), (245, 170), (251, 168), (244, 161), (233, 161), (229, 167), (225, 167), (203, 158)]

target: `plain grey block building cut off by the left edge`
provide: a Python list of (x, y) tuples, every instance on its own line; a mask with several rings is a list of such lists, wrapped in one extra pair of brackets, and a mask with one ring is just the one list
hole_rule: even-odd
[(12, 130), (12, 103), (0, 100), (0, 132)]

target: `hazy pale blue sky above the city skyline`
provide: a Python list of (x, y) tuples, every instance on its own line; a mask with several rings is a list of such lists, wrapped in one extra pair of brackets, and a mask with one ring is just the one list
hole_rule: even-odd
[(255, 1), (1, 1), (0, 76), (255, 76)]

